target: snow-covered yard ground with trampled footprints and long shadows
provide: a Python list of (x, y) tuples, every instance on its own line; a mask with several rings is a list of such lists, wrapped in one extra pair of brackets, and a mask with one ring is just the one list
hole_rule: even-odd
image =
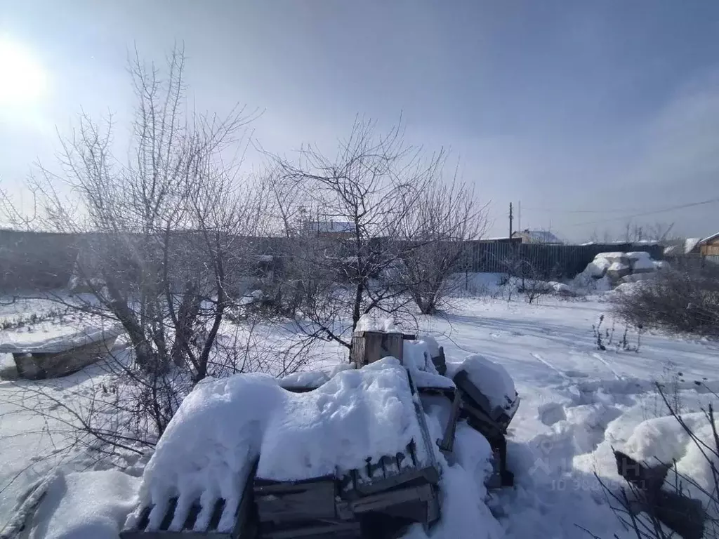
[[(529, 305), (516, 294), (510, 301), (460, 298), (454, 300), (451, 315), (421, 319), (421, 330), (436, 337), (449, 360), (461, 361), (480, 353), (508, 370), (521, 396), (510, 425), (508, 448), (516, 487), (493, 494), (490, 514), (482, 500), (476, 499), (482, 492), (471, 479), (484, 472), (462, 467), (472, 459), (460, 458), (457, 466), (445, 469), (446, 482), (456, 488), (446, 496), (444, 522), (433, 537), (477, 538), (482, 533), (518, 539), (588, 536), (581, 528), (599, 537), (615, 533), (631, 537), (620, 528), (594, 476), (596, 472), (608, 481), (617, 479), (611, 448), (626, 448), (642, 459), (654, 455), (684, 459), (684, 470), (697, 471), (686, 437), (671, 421), (656, 420), (667, 415), (667, 410), (654, 382), (666, 384), (682, 412), (699, 410), (711, 402), (709, 390), (719, 390), (719, 347), (710, 341), (646, 332), (640, 342), (631, 329), (627, 346), (617, 346), (625, 328), (613, 321), (610, 305), (603, 298), (566, 301), (545, 297), (539, 301)], [(601, 315), (605, 315), (600, 326), (605, 351), (597, 349), (592, 330)], [(68, 388), (75, 394), (92, 382), (93, 373), (99, 372), (93, 368), (97, 367), (32, 384), (56, 387), (53, 395), (62, 400), (70, 395)], [(0, 528), (27, 485), (58, 459), (67, 460), (62, 440), (47, 435), (52, 428), (25, 410), (28, 399), (38, 398), (27, 395), (29, 385), (0, 382)], [(460, 428), (457, 451), (483, 451), (482, 440), (473, 430)], [(72, 469), (81, 471), (81, 464), (73, 464)], [(60, 536), (61, 529), (89, 530), (82, 532), (89, 535), (78, 531), (66, 537), (116, 537), (116, 527), (124, 520), (123, 511), (129, 510), (128, 499), (137, 492), (139, 481), (128, 478), (118, 482), (108, 475), (116, 472), (93, 473), (96, 481), (86, 474), (66, 474), (59, 486), (52, 487), (50, 502), (43, 503), (38, 515), (43, 528), (35, 531), (35, 537)], [(6, 488), (15, 476), (19, 479)], [(114, 490), (102, 487), (109, 484), (115, 485)], [(81, 505), (97, 500), (97, 507), (78, 511), (73, 521), (66, 516), (73, 500)], [(409, 535), (423, 536), (421, 530)]]

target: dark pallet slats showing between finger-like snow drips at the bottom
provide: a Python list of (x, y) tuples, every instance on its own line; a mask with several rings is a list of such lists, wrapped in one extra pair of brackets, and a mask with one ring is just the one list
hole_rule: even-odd
[[(216, 499), (211, 507), (203, 507), (196, 499), (190, 507), (178, 512), (178, 497), (168, 500), (165, 507), (149, 505), (139, 512), (139, 518), (120, 532), (120, 539), (253, 539), (257, 535), (252, 516), (252, 476), (257, 462), (252, 466), (245, 483), (242, 499), (237, 507), (226, 507), (225, 499)], [(226, 520), (226, 512), (232, 511), (234, 525), (231, 530), (220, 531), (220, 522)], [(223, 518), (224, 517), (224, 518)], [(153, 525), (153, 521), (159, 525)]]

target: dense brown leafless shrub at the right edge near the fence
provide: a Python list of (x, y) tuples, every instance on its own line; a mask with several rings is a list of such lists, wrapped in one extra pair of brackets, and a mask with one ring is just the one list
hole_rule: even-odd
[(719, 336), (719, 270), (668, 270), (615, 295), (615, 313), (634, 326)]

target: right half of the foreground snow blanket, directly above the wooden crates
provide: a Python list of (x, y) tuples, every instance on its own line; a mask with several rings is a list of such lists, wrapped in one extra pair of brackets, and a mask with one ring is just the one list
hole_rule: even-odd
[(311, 393), (282, 397), (262, 438), (257, 475), (265, 479), (356, 469), (421, 439), (406, 371), (394, 358), (342, 372)]

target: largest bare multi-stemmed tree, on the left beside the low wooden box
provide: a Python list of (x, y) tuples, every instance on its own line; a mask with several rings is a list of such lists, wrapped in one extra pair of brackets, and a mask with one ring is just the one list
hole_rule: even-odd
[[(100, 126), (83, 114), (61, 141), (61, 172), (41, 166), (29, 180), (38, 213), (7, 200), (4, 208), (28, 229), (81, 239), (75, 280), (92, 294), (53, 298), (127, 332), (132, 354), (111, 367), (124, 389), (106, 404), (150, 441), (194, 384), (224, 373), (216, 341), (269, 199), (236, 181), (233, 152), (255, 114), (186, 114), (182, 50), (165, 70), (137, 53), (129, 67), (137, 98), (129, 158), (115, 157), (112, 119)], [(127, 436), (119, 425), (101, 431), (115, 442)]]

